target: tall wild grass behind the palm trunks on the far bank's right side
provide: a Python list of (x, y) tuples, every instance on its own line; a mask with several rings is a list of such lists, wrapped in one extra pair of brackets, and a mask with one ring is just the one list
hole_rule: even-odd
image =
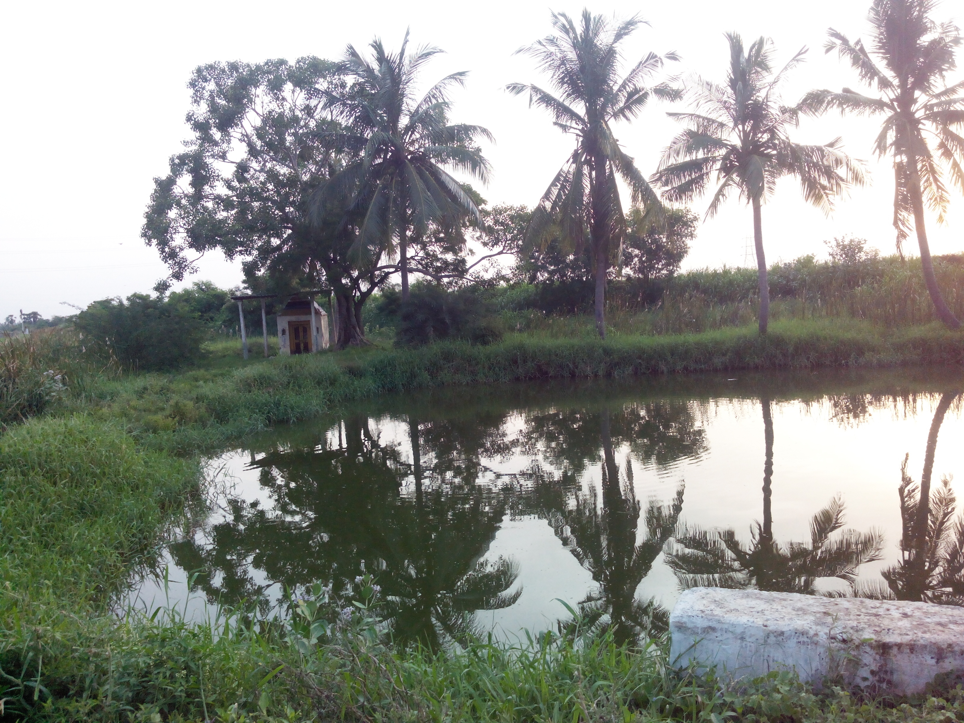
[[(938, 283), (954, 313), (964, 315), (964, 254), (935, 257)], [(889, 328), (935, 320), (919, 258), (869, 257), (850, 263), (802, 256), (769, 269), (773, 320), (860, 319)], [(510, 329), (580, 335), (591, 326), (583, 315), (544, 314), (534, 286), (500, 289)], [(588, 308), (589, 301), (574, 303)], [(669, 281), (617, 279), (607, 302), (609, 334), (685, 334), (755, 322), (759, 308), (756, 269), (703, 269)], [(515, 310), (513, 310), (515, 309)], [(519, 310), (527, 309), (527, 310)]]

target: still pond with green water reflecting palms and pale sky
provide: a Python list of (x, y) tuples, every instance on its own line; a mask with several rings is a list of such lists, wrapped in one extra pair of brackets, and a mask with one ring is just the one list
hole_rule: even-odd
[(515, 638), (571, 619), (563, 603), (636, 634), (693, 585), (962, 604), (961, 389), (960, 369), (931, 368), (358, 404), (211, 460), (168, 579), (143, 576), (131, 600), (266, 615), (285, 589), (363, 571), (400, 639)]

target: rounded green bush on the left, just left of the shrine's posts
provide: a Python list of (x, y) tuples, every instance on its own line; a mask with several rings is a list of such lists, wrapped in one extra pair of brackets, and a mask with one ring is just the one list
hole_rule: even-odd
[(131, 294), (104, 299), (77, 314), (74, 326), (86, 353), (124, 367), (143, 370), (174, 369), (201, 357), (204, 325), (181, 304)]

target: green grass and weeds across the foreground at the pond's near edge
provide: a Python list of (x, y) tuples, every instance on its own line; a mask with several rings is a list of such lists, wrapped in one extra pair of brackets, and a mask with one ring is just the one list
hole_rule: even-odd
[[(370, 601), (370, 599), (367, 599)], [(344, 604), (347, 601), (331, 601)], [(322, 605), (306, 621), (337, 616)], [(333, 609), (327, 609), (333, 608)], [(610, 635), (546, 633), (517, 645), (467, 640), (398, 650), (377, 607), (306, 636), (307, 626), (223, 616), (189, 624), (171, 610), (121, 621), (67, 611), (0, 638), (7, 710), (46, 721), (869, 721), (964, 719), (964, 689), (916, 699), (821, 694), (792, 676), (724, 684), (667, 665), (661, 640), (629, 648)], [(297, 620), (297, 616), (296, 616)]]

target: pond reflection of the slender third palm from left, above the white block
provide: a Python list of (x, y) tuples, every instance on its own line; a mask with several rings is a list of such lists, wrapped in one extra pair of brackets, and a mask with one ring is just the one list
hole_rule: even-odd
[(750, 544), (736, 538), (733, 529), (683, 529), (666, 561), (683, 588), (729, 587), (817, 594), (817, 579), (836, 577), (852, 588), (857, 569), (881, 558), (883, 536), (871, 530), (845, 530), (844, 503), (835, 497), (810, 522), (810, 544), (780, 545), (773, 536), (773, 414), (768, 396), (763, 408), (763, 523), (757, 522)]

